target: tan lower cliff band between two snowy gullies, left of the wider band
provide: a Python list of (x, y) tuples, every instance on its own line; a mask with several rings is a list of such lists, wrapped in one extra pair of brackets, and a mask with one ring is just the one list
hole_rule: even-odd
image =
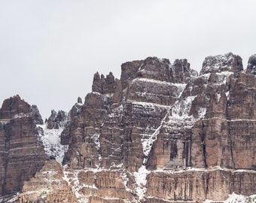
[(135, 194), (124, 184), (122, 171), (117, 170), (72, 170), (64, 171), (78, 201), (89, 202), (136, 202)]

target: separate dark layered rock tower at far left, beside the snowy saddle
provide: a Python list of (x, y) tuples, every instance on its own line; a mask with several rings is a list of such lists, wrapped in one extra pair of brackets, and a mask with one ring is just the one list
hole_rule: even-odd
[(41, 124), (36, 106), (19, 95), (8, 98), (0, 109), (0, 196), (20, 191), (44, 165), (47, 156), (38, 141), (35, 124)]

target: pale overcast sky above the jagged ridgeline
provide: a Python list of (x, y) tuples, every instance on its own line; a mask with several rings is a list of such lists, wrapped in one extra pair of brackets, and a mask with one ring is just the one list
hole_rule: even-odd
[[(69, 111), (99, 71), (148, 56), (256, 53), (255, 0), (0, 0), (0, 103), (19, 94), (41, 115)], [(0, 104), (0, 106), (1, 106)]]

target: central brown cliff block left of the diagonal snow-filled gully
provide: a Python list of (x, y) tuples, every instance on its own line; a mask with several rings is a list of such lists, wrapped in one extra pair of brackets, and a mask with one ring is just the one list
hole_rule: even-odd
[(62, 133), (62, 144), (72, 146), (64, 164), (110, 168), (112, 163), (123, 163), (137, 171), (145, 158), (141, 139), (157, 129), (191, 72), (186, 60), (171, 65), (168, 59), (149, 57), (123, 64), (121, 80), (114, 80), (111, 73), (106, 78), (96, 73), (94, 92), (87, 95), (79, 114), (72, 114), (68, 130)]

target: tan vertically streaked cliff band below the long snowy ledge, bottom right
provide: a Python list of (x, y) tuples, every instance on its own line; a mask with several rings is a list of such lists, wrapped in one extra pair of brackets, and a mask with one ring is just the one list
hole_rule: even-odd
[(188, 170), (152, 172), (146, 195), (172, 201), (221, 201), (233, 192), (255, 194), (255, 171)]

